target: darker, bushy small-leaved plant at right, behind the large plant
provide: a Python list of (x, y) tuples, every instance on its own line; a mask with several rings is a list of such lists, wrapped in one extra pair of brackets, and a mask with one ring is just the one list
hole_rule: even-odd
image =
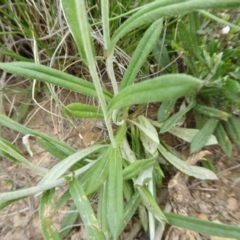
[[(193, 107), (197, 128), (202, 130), (191, 142), (191, 151), (201, 149), (207, 142), (207, 135), (214, 133), (223, 151), (231, 156), (232, 143), (239, 146), (240, 136), (240, 122), (234, 116), (238, 114), (239, 106), (239, 60), (236, 58), (239, 50), (235, 47), (238, 41), (231, 42), (238, 36), (239, 23), (226, 22), (230, 18), (227, 12), (223, 13), (224, 18), (203, 10), (199, 12), (221, 24), (231, 25), (232, 30), (229, 28), (226, 35), (222, 29), (214, 29), (208, 19), (201, 23), (197, 13), (178, 22), (177, 41), (172, 42), (172, 46), (183, 52), (186, 71), (204, 79)], [(233, 45), (228, 46), (229, 42)]]

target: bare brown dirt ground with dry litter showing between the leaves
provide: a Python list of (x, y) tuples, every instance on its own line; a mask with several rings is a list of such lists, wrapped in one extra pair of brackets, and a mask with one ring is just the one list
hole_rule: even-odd
[[(44, 108), (52, 110), (52, 105), (41, 103)], [(57, 113), (57, 112), (56, 112)], [(31, 116), (31, 117), (30, 117)], [(51, 116), (40, 108), (33, 107), (25, 121), (28, 127), (43, 133), (50, 134), (58, 139), (63, 139), (76, 149), (81, 149), (104, 137), (104, 130), (95, 120), (81, 120), (76, 123), (74, 129), (65, 120)], [(50, 168), (57, 160), (38, 147), (31, 141), (33, 157), (22, 145), (22, 136), (17, 136), (15, 132), (3, 128), (3, 137), (14, 141), (15, 145), (22, 149), (29, 161)], [(170, 206), (171, 211), (179, 212), (201, 219), (222, 222), (240, 227), (240, 149), (234, 148), (231, 158), (223, 155), (217, 147), (208, 149), (211, 151), (211, 159), (218, 170), (218, 181), (198, 181), (196, 179), (186, 179), (179, 173), (173, 173), (166, 179), (163, 189), (158, 193), (158, 202), (162, 208)], [(0, 192), (15, 190), (23, 186), (33, 186), (41, 179), (40, 174), (0, 158)], [(176, 184), (177, 185), (174, 185)], [(171, 188), (174, 187), (174, 188)], [(66, 186), (59, 187), (57, 192), (61, 194)], [(171, 191), (175, 189), (175, 191)], [(188, 201), (186, 201), (187, 197)], [(38, 221), (39, 197), (31, 196), (18, 201), (1, 211), (0, 214), (0, 240), (17, 239), (43, 239)], [(54, 216), (54, 225), (60, 227), (61, 220), (68, 212), (68, 206), (62, 207)], [(67, 239), (86, 239), (80, 221)], [(137, 217), (121, 235), (122, 240), (142, 239), (147, 240)], [(156, 238), (160, 239), (160, 238)], [(189, 231), (170, 227), (162, 239), (211, 239), (209, 236), (194, 234)]]

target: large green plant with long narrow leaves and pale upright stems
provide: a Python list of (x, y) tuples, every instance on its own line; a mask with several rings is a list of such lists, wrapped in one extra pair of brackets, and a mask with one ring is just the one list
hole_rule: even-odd
[[(52, 224), (51, 213), (66, 203), (69, 198), (73, 199), (72, 208), (78, 210), (85, 224), (88, 239), (117, 239), (137, 210), (140, 213), (143, 210), (148, 213), (150, 239), (154, 239), (156, 221), (160, 222), (163, 227), (169, 222), (172, 225), (205, 234), (238, 238), (240, 231), (237, 227), (226, 227), (218, 224), (211, 224), (211, 227), (208, 227), (207, 224), (209, 223), (206, 221), (192, 220), (192, 218), (177, 214), (164, 214), (155, 199), (156, 188), (161, 186), (161, 179), (164, 177), (159, 157), (187, 175), (199, 179), (217, 178), (212, 171), (202, 167), (190, 166), (181, 160), (167, 144), (163, 143), (157, 131), (157, 128), (160, 127), (160, 133), (169, 131), (191, 142), (192, 152), (206, 145), (209, 139), (212, 141), (211, 143), (216, 143), (215, 140), (211, 139), (211, 134), (219, 124), (218, 119), (224, 120), (225, 117), (228, 117), (223, 112), (217, 112), (220, 117), (219, 115), (208, 116), (210, 118), (207, 127), (211, 128), (208, 136), (205, 136), (206, 127), (202, 128), (201, 131), (194, 129), (192, 137), (188, 137), (189, 135), (186, 136), (185, 134), (187, 130), (174, 126), (191, 109), (194, 108), (199, 112), (200, 109), (204, 108), (199, 105), (199, 102), (196, 103), (200, 101), (205, 85), (206, 87), (209, 86), (208, 83), (206, 84), (206, 82), (198, 79), (205, 77), (200, 74), (203, 71), (194, 69), (194, 66), (191, 65), (189, 68), (191, 68), (191, 73), (195, 77), (187, 74), (172, 73), (135, 84), (134, 81), (159, 39), (163, 29), (164, 17), (188, 14), (190, 12), (188, 16), (193, 20), (196, 18), (196, 15), (192, 13), (193, 11), (202, 8), (235, 7), (239, 6), (239, 1), (154, 1), (141, 6), (134, 12), (130, 12), (132, 15), (116, 29), (112, 36), (109, 24), (111, 20), (109, 19), (109, 2), (107, 0), (101, 1), (103, 52), (106, 55), (106, 70), (111, 80), (113, 93), (101, 86), (96, 67), (97, 57), (86, 2), (84, 0), (62, 0), (61, 5), (81, 56), (81, 61), (88, 68), (93, 83), (60, 70), (43, 66), (37, 60), (35, 60), (35, 63), (0, 63), (0, 68), (12, 74), (37, 79), (97, 98), (101, 106), (100, 110), (81, 103), (71, 103), (62, 107), (62, 110), (68, 118), (71, 118), (72, 115), (75, 117), (102, 118), (107, 128), (109, 141), (106, 144), (97, 143), (76, 151), (64, 142), (24, 127), (1, 114), (0, 123), (2, 125), (24, 135), (34, 136), (43, 148), (61, 160), (51, 169), (37, 167), (30, 164), (10, 142), (0, 139), (0, 154), (2, 156), (22, 163), (26, 167), (43, 174), (43, 178), (37, 186), (1, 193), (1, 207), (3, 208), (19, 198), (42, 194), (39, 217), (45, 239), (61, 239), (66, 236), (65, 234), (68, 234), (68, 232), (58, 233)], [(147, 24), (148, 27), (137, 43), (136, 50), (128, 64), (120, 86), (118, 86), (113, 66), (114, 48), (125, 34)], [(196, 23), (191, 22), (191, 24)], [(191, 27), (194, 26), (191, 25)], [(181, 24), (180, 28), (183, 31)], [(181, 32), (181, 34), (184, 33)], [(187, 36), (189, 36), (189, 33)], [(205, 59), (199, 52), (194, 37), (196, 36), (191, 35), (190, 40), (192, 40), (193, 45), (189, 46), (192, 47), (192, 51), (198, 50), (195, 51), (195, 57), (204, 65), (206, 64)], [(188, 49), (188, 51), (190, 50)], [(181, 110), (168, 118), (169, 114), (165, 114), (166, 110), (169, 112), (173, 108), (175, 100), (180, 97), (185, 97)], [(149, 102), (164, 103), (159, 109), (159, 118), (162, 118), (163, 123), (154, 122), (143, 115), (138, 115), (137, 112), (133, 118), (130, 118), (129, 108), (132, 105), (147, 104)], [(211, 112), (217, 114), (216, 110)], [(112, 124), (118, 126), (116, 133), (113, 131)], [(177, 131), (178, 133), (180, 131), (180, 134)], [(78, 165), (80, 167), (76, 167), (75, 164), (77, 163), (80, 163)], [(70, 173), (68, 170), (70, 170)], [(69, 189), (54, 204), (55, 188), (66, 182), (69, 183)], [(96, 213), (89, 200), (94, 193), (98, 193), (99, 196)], [(76, 219), (75, 217), (73, 217), (73, 220)], [(142, 221), (144, 222), (146, 219), (142, 219)], [(65, 228), (73, 222), (65, 219), (63, 223), (62, 227)], [(221, 230), (222, 227), (224, 227), (224, 231)]]

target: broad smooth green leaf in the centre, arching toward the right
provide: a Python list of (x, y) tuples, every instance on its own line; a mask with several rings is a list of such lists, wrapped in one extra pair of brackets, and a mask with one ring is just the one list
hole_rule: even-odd
[(194, 93), (201, 81), (186, 74), (168, 74), (124, 88), (109, 103), (108, 111), (133, 104), (166, 101)]

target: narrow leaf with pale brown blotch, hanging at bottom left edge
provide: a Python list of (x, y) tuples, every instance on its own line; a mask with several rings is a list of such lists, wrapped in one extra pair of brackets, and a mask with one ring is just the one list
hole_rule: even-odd
[(39, 218), (44, 239), (60, 240), (61, 237), (53, 224), (55, 189), (43, 193), (39, 206)]

